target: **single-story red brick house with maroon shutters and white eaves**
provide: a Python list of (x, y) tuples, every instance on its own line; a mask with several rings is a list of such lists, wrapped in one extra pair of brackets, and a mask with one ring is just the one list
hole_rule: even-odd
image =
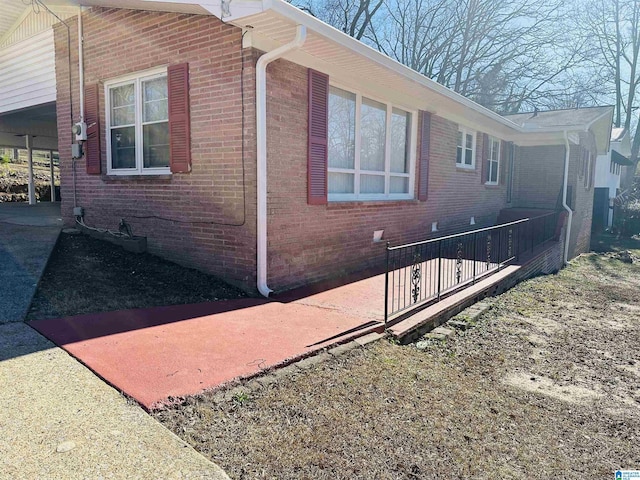
[(68, 224), (74, 206), (124, 218), (151, 252), (267, 294), (379, 264), (386, 241), (561, 208), (569, 144), (569, 256), (588, 248), (579, 172), (608, 149), (610, 107), (504, 118), (282, 0), (82, 3), (83, 88), (77, 23), (70, 51), (55, 28)]

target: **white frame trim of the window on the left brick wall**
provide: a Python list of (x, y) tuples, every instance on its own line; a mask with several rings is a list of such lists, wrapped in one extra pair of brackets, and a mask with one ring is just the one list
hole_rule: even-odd
[[(107, 175), (171, 175), (171, 167), (143, 167), (143, 149), (138, 148), (142, 145), (142, 101), (138, 100), (141, 94), (140, 85), (143, 80), (152, 80), (167, 76), (167, 67), (158, 67), (151, 70), (143, 70), (129, 75), (123, 75), (112, 80), (104, 82), (104, 103), (105, 103), (105, 124), (106, 124), (106, 145), (107, 145)], [(119, 85), (135, 82), (136, 84), (136, 168), (117, 168), (111, 167), (111, 95), (109, 90)], [(168, 88), (168, 87), (167, 87)], [(168, 119), (167, 119), (168, 120)], [(153, 123), (153, 122), (148, 122)], [(159, 122), (155, 122), (159, 123)]]

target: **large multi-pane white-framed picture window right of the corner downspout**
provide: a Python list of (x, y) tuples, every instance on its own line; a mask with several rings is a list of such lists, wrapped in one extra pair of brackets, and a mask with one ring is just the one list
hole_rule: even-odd
[(330, 201), (413, 198), (412, 113), (331, 86)]

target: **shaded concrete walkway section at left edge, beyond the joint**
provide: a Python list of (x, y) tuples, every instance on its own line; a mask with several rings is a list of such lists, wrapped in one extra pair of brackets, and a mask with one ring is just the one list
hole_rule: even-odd
[(0, 324), (26, 316), (61, 228), (58, 203), (0, 203)]

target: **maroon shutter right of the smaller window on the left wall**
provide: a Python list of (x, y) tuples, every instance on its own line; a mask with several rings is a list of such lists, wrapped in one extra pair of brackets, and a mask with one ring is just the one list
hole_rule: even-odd
[(169, 151), (172, 173), (191, 171), (191, 119), (189, 112), (189, 64), (167, 69), (169, 90)]

